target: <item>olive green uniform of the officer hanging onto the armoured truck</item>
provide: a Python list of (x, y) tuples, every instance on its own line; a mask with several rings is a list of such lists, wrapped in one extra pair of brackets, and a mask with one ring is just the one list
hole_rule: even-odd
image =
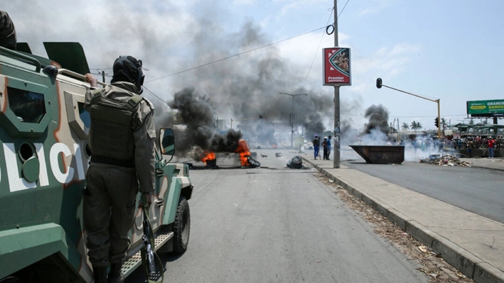
[[(134, 223), (136, 194), (138, 191), (154, 192), (156, 131), (154, 106), (145, 98), (136, 101), (137, 104), (130, 116), (118, 118), (114, 111), (110, 111), (111, 121), (114, 118), (129, 121), (123, 121), (116, 126), (109, 126), (107, 121), (96, 123), (96, 120), (93, 120), (95, 115), (93, 113), (96, 113), (93, 112), (93, 107), (96, 109), (97, 104), (93, 98), (97, 94), (102, 95), (104, 100), (120, 103), (132, 99), (132, 96), (138, 94), (138, 90), (129, 82), (115, 82), (102, 91), (91, 88), (85, 97), (85, 109), (90, 112), (92, 121), (90, 127), (92, 157), (86, 173), (87, 188), (83, 207), (89, 250), (87, 255), (93, 266), (105, 267), (112, 263), (124, 262), (131, 243), (128, 231)], [(107, 127), (110, 131), (107, 131)], [(130, 136), (124, 138), (124, 133)], [(129, 143), (127, 140), (132, 141), (132, 146), (124, 145)], [(100, 148), (97, 145), (100, 145)], [(123, 149), (123, 152), (127, 151), (126, 154), (131, 160), (118, 162), (117, 155), (113, 155), (117, 152), (117, 148)], [(95, 157), (95, 152), (100, 152), (101, 158)], [(107, 152), (110, 152), (110, 156), (106, 156)]]

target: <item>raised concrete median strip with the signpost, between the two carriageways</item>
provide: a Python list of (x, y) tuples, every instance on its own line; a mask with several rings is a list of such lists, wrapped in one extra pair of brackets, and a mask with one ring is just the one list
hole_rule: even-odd
[[(419, 242), (440, 253), (446, 262), (477, 283), (504, 283), (504, 223), (410, 191), (333, 160), (305, 163), (334, 179)], [(307, 159), (309, 158), (309, 159)], [(504, 160), (460, 158), (473, 167), (504, 170)]]

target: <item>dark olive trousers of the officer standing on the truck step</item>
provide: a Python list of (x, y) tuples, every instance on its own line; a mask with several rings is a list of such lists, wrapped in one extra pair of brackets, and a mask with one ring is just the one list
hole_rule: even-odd
[(131, 243), (138, 180), (128, 168), (91, 165), (86, 174), (84, 225), (87, 255), (95, 267), (122, 263)]

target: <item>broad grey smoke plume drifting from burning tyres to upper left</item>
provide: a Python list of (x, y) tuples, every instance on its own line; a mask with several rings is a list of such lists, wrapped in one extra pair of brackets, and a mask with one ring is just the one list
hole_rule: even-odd
[[(181, 110), (168, 106), (166, 101), (173, 101), (173, 107), (182, 108), (178, 100), (183, 99), (174, 99), (174, 96), (191, 92), (190, 89), (193, 89), (193, 102), (211, 102), (210, 109), (216, 117), (225, 120), (227, 126), (232, 118), (237, 121), (233, 128), (243, 129), (231, 131), (227, 140), (243, 135), (256, 137), (259, 144), (290, 145), (289, 116), (293, 106), (294, 130), (304, 126), (306, 140), (311, 140), (315, 133), (320, 135), (333, 128), (332, 88), (321, 87), (321, 78), (313, 76), (310, 66), (298, 64), (295, 55), (282, 54), (279, 45), (271, 44), (278, 38), (269, 38), (253, 21), (227, 31), (230, 27), (221, 20), (232, 11), (222, 4), (198, 1), (198, 9), (186, 11), (168, 2), (124, 1), (119, 4), (116, 1), (50, 0), (51, 4), (46, 5), (26, 0), (5, 1), (2, 9), (9, 11), (13, 18), (18, 41), (30, 43), (36, 55), (45, 56), (44, 41), (79, 42), (92, 72), (97, 71), (93, 68), (100, 68), (98, 72), (104, 70), (107, 80), (112, 76), (110, 67), (119, 55), (141, 59), (149, 69), (144, 73), (145, 87), (149, 89), (144, 91), (144, 96), (156, 106), (156, 127), (179, 123), (174, 121), (171, 112), (181, 115), (178, 112), (187, 110), (192, 113), (183, 118), (183, 123), (188, 123), (187, 132), (197, 133), (184, 135), (184, 143), (177, 145), (179, 153), (199, 145), (218, 148), (217, 145), (227, 144), (222, 143), (222, 136), (227, 138), (227, 133), (218, 136), (213, 133), (212, 115), (200, 116), (202, 113), (195, 113), (191, 108)], [(92, 8), (96, 4), (100, 9)], [(31, 9), (26, 9), (28, 6)], [(53, 9), (55, 6), (57, 12)], [(55, 14), (63, 24), (53, 24)], [(30, 21), (26, 21), (27, 18)], [(87, 28), (82, 29), (82, 23), (86, 23)], [(313, 48), (319, 56), (320, 48)], [(149, 94), (150, 91), (155, 95)], [(309, 95), (292, 99), (279, 92)], [(198, 101), (199, 97), (210, 100)], [(355, 107), (341, 104), (341, 113), (356, 113), (348, 109), (355, 110)], [(259, 114), (264, 117), (262, 120), (254, 118)], [(342, 115), (341, 118), (347, 117)], [(245, 120), (247, 118), (254, 119)], [(234, 145), (226, 146), (232, 148)]]

